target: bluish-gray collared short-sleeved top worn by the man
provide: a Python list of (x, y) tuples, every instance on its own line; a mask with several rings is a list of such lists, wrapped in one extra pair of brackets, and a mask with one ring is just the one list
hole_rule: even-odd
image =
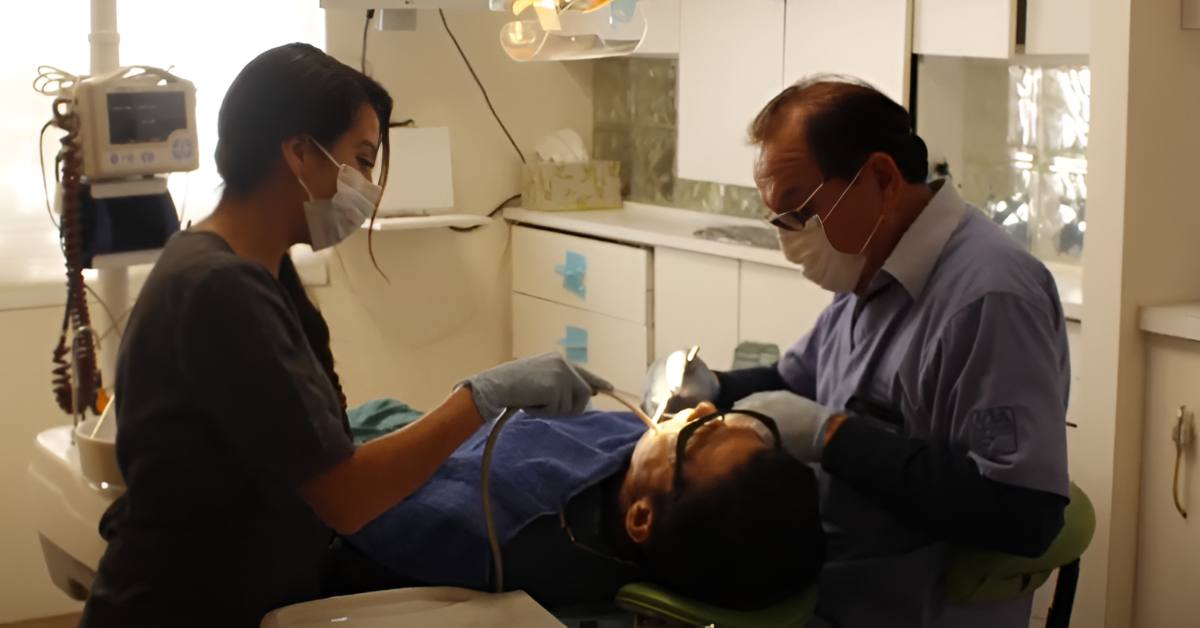
[[(995, 482), (1067, 496), (1070, 366), (1054, 277), (952, 181), (934, 186), (868, 293), (836, 295), (785, 353), (780, 375), (829, 407), (869, 391), (902, 414), (901, 433), (966, 453)], [(874, 376), (860, 384), (872, 357)], [(943, 543), (820, 477), (829, 561), (818, 616), (827, 624), (1028, 624), (1032, 596), (948, 604)]]

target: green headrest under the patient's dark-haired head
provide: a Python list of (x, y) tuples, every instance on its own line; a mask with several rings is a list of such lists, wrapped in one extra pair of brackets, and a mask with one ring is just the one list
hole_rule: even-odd
[(791, 628), (809, 622), (817, 605), (817, 587), (758, 610), (731, 610), (677, 596), (658, 585), (638, 582), (617, 592), (617, 605), (692, 626), (719, 628)]

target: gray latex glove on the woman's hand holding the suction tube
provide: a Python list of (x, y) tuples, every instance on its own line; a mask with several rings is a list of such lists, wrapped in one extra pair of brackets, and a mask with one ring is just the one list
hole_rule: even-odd
[(535, 417), (570, 417), (588, 407), (592, 395), (612, 384), (572, 365), (558, 353), (542, 353), (494, 366), (458, 384), (470, 387), (472, 399), (485, 423), (504, 408), (520, 408)]

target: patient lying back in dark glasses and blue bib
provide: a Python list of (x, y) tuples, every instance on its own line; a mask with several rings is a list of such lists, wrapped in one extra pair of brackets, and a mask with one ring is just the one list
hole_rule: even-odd
[[(727, 414), (700, 425), (676, 477), (680, 429), (713, 411), (702, 403), (658, 432), (628, 413), (514, 417), (492, 462), (505, 590), (559, 606), (654, 581), (756, 608), (810, 585), (824, 556), (816, 480), (766, 424)], [(492, 590), (479, 489), (486, 437), (480, 430), (418, 492), (346, 539), (368, 558), (355, 591)]]

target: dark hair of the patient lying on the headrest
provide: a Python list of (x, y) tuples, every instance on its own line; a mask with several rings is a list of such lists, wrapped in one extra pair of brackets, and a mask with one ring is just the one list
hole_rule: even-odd
[(774, 604), (816, 581), (824, 533), (812, 469), (780, 449), (727, 477), (656, 497), (642, 544), (655, 582), (734, 609)]

